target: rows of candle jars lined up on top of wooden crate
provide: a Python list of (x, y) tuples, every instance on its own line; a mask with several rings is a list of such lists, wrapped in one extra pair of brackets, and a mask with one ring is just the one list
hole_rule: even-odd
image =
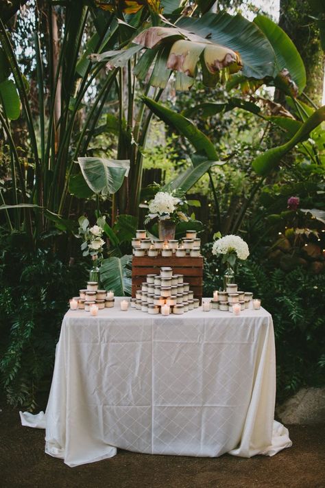
[(144, 230), (136, 231), (136, 237), (132, 239), (133, 254), (136, 257), (200, 257), (201, 240), (196, 231), (186, 231), (186, 237), (178, 240), (152, 240), (147, 237)]

